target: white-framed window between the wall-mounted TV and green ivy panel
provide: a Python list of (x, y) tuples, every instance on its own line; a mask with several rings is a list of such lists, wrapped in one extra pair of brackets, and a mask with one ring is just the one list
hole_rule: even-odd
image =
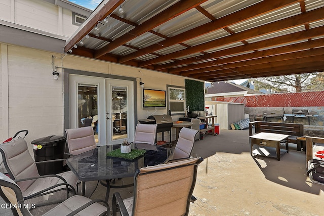
[(169, 110), (171, 114), (181, 114), (186, 109), (186, 94), (184, 88), (169, 87), (168, 98), (169, 98)]

